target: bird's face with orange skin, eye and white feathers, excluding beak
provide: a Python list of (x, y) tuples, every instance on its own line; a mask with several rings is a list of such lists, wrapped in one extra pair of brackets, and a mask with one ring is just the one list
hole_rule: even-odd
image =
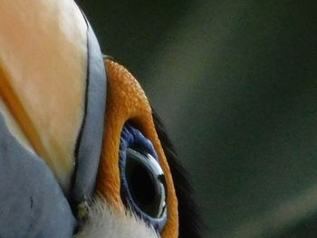
[[(78, 237), (89, 237), (85, 235), (96, 227), (95, 217), (102, 214), (107, 215), (98, 219), (104, 227), (99, 232), (109, 233), (104, 237), (112, 237), (111, 233), (158, 237), (159, 232), (162, 237), (177, 237), (177, 198), (168, 193), (175, 190), (149, 102), (129, 71), (110, 61), (106, 61), (106, 69), (106, 132), (96, 182), (101, 198), (92, 210), (88, 207), (89, 225), (82, 227), (84, 234)], [(109, 225), (109, 221), (116, 223)]]

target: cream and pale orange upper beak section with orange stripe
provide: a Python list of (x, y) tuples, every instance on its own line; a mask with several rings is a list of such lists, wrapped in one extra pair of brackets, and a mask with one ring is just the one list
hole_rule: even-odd
[(70, 188), (82, 126), (87, 24), (72, 0), (0, 4), (0, 113)]

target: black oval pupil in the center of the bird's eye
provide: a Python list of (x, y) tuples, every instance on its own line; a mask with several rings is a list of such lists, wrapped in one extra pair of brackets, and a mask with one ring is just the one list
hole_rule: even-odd
[(135, 157), (128, 157), (126, 177), (134, 203), (152, 217), (159, 214), (159, 191), (154, 175)]

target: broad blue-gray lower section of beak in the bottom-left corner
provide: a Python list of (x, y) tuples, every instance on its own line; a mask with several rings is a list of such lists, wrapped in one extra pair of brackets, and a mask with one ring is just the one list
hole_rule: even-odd
[(12, 136), (1, 114), (0, 171), (0, 237), (72, 237), (76, 220), (53, 173)]

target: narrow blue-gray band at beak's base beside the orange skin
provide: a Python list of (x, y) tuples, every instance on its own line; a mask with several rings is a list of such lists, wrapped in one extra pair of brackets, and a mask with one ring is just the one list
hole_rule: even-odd
[(93, 195), (98, 172), (104, 115), (106, 110), (106, 71), (101, 49), (91, 24), (87, 22), (87, 89), (85, 116), (76, 149), (76, 172), (72, 188), (72, 201), (75, 204)]

